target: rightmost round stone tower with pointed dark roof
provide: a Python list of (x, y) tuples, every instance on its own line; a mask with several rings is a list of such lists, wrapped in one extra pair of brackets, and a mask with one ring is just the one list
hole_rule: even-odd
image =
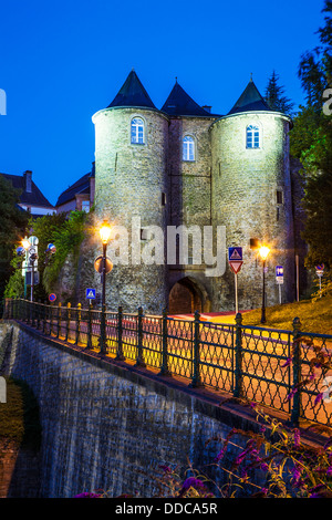
[[(291, 119), (273, 112), (252, 79), (231, 111), (211, 126), (212, 218), (226, 226), (227, 248), (241, 246), (238, 274), (242, 309), (259, 306), (262, 263), (256, 243), (271, 248), (267, 303), (279, 302), (276, 266), (283, 266), (283, 301), (293, 294), (293, 220), (289, 137)], [(215, 285), (214, 302), (225, 308), (232, 293), (228, 269)]]

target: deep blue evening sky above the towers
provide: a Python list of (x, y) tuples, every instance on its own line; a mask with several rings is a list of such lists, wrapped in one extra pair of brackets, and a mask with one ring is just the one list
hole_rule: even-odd
[(301, 54), (318, 45), (323, 0), (7, 1), (0, 13), (0, 171), (33, 180), (51, 204), (94, 160), (92, 115), (134, 67), (160, 108), (175, 83), (227, 113), (250, 73), (273, 69), (298, 106)]

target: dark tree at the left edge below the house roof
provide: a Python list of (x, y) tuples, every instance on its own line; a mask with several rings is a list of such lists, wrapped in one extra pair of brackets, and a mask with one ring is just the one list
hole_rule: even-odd
[(18, 206), (20, 191), (0, 175), (0, 299), (14, 266), (11, 264), (12, 251), (24, 237), (29, 214)]

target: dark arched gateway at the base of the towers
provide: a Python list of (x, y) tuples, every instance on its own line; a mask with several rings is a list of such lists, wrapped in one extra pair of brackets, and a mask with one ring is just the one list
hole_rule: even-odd
[(210, 302), (205, 288), (195, 279), (178, 280), (169, 292), (169, 314), (193, 314), (209, 311)]

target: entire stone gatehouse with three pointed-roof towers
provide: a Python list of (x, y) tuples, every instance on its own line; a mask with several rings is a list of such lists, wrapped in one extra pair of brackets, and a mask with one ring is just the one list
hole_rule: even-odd
[[(270, 110), (252, 80), (231, 111), (219, 115), (198, 105), (177, 81), (157, 110), (132, 71), (93, 122), (95, 215), (127, 233), (127, 263), (118, 253), (125, 248), (117, 236), (108, 247), (114, 263), (107, 275), (110, 309), (122, 305), (134, 312), (143, 306), (158, 314), (166, 306), (172, 313), (235, 309), (235, 278), (228, 264), (216, 278), (208, 278), (204, 262), (195, 263), (190, 253), (186, 263), (177, 259), (167, 264), (168, 227), (181, 225), (225, 227), (225, 259), (228, 247), (242, 247), (240, 310), (261, 305), (259, 242), (271, 248), (267, 305), (279, 301), (279, 264), (284, 269), (282, 301), (293, 300), (291, 119)], [(164, 254), (158, 260), (155, 249), (154, 260), (146, 262), (144, 251), (151, 248), (154, 231), (144, 230), (151, 232), (151, 227), (164, 233)]]

